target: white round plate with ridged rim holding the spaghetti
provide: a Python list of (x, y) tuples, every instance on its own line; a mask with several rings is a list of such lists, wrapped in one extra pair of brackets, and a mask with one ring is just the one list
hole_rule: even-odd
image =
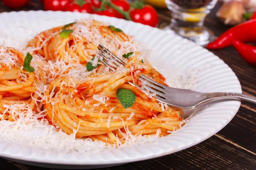
[[(186, 88), (201, 92), (241, 93), (241, 85), (233, 71), (208, 50), (173, 32), (166, 33), (157, 28), (113, 17), (61, 11), (1, 13), (0, 42), (8, 40), (7, 45), (19, 48), (20, 42), (25, 45), (29, 39), (41, 31), (88, 17), (111, 23), (121, 28), (126, 34), (134, 35), (144, 42), (147, 48), (152, 49), (150, 60), (157, 70), (162, 71), (164, 76), (173, 77), (169, 82), (177, 81), (174, 79), (175, 75), (180, 74), (183, 76), (182, 79), (180, 77), (178, 79), (180, 87), (187, 85)], [(190, 81), (191, 87), (188, 86), (187, 81)], [(181, 130), (146, 144), (103, 150), (101, 153), (63, 154), (47, 149), (38, 150), (32, 146), (20, 146), (19, 141), (0, 139), (0, 156), (37, 166), (73, 169), (108, 167), (156, 158), (186, 149), (214, 135), (230, 122), (240, 104), (240, 102), (231, 101), (211, 105), (192, 117), (187, 126)], [(64, 166), (65, 164), (70, 166)]]

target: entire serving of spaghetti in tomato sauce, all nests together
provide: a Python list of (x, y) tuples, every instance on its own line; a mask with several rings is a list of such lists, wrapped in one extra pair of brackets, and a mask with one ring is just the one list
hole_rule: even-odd
[[(126, 66), (116, 71), (105, 67), (98, 60), (99, 43)], [(34, 57), (34, 73), (24, 71), (20, 52), (2, 52), (15, 58), (12, 65), (1, 64), (2, 113), (4, 105), (29, 104), (35, 113), (45, 112), (57, 130), (107, 144), (124, 144), (138, 135), (166, 136), (183, 125), (181, 110), (143, 90), (141, 74), (164, 85), (165, 78), (147, 62), (140, 43), (119, 28), (79, 20), (38, 34), (25, 51)]]

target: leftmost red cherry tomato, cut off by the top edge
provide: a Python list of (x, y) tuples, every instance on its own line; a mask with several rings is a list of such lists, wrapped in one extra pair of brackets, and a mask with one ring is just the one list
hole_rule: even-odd
[(44, 10), (65, 11), (71, 0), (44, 0)]

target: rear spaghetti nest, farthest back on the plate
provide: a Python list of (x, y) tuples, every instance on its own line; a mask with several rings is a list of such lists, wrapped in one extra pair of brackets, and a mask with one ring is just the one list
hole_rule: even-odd
[[(96, 20), (81, 20), (78, 23), (66, 26), (73, 30), (67, 38), (60, 37), (64, 26), (52, 28), (38, 34), (29, 41), (28, 48), (36, 49), (35, 54), (44, 56), (47, 60), (65, 59), (67, 55), (75, 58), (73, 62), (86, 64), (96, 54), (96, 49), (101, 42), (109, 50), (118, 54), (120, 44), (127, 44), (125, 51), (130, 52), (133, 39), (122, 31), (114, 32), (103, 23)], [(125, 48), (125, 46), (123, 46)]]

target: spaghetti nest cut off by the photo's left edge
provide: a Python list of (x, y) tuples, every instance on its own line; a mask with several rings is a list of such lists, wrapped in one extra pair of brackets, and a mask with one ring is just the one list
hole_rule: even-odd
[[(23, 61), (24, 55), (21, 52), (0, 45), (0, 119), (18, 119), (19, 113), (11, 111), (9, 105), (29, 105), (32, 111), (37, 109), (38, 104), (34, 99), (39, 96), (34, 92), (36, 84), (44, 80), (26, 71), (22, 66)], [(37, 73), (41, 74), (38, 68)]]

